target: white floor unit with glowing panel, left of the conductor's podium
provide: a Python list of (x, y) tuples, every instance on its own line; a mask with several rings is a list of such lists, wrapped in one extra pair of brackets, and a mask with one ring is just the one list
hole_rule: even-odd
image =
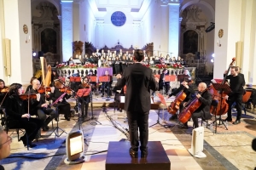
[(84, 134), (79, 130), (67, 134), (66, 139), (67, 158), (65, 163), (68, 165), (84, 162)]

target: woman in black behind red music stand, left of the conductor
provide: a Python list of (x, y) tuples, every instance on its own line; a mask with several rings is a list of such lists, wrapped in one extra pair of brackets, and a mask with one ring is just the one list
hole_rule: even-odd
[[(91, 91), (91, 88), (90, 88), (90, 79), (89, 77), (84, 77), (82, 79), (82, 83), (79, 85), (79, 89), (90, 89), (88, 90), (88, 92)], [(90, 103), (90, 93), (86, 93), (84, 92), (85, 96), (83, 95), (81, 98), (80, 98), (80, 102), (81, 102), (81, 111), (82, 111), (82, 117), (83, 119), (88, 117), (88, 108), (89, 108), (89, 103)], [(85, 108), (85, 115), (84, 115), (84, 108)]]

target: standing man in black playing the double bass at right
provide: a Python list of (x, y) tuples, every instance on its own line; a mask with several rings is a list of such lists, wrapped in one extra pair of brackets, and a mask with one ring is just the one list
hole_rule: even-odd
[[(230, 67), (230, 75), (226, 77), (226, 79), (230, 79), (230, 89), (232, 92), (228, 94), (228, 104), (229, 104), (229, 110), (228, 110), (228, 117), (224, 120), (227, 122), (232, 122), (232, 105), (234, 102), (236, 102), (236, 122), (233, 122), (233, 124), (239, 124), (241, 119), (241, 99), (242, 95), (244, 93), (244, 89), (242, 88), (244, 84), (244, 80), (241, 76), (238, 75), (239, 68), (236, 66)], [(224, 76), (228, 74), (227, 71), (224, 71)], [(227, 98), (227, 97), (226, 97)]]

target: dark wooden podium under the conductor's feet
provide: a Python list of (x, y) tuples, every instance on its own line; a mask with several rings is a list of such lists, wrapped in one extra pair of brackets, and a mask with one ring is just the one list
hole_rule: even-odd
[(106, 170), (170, 170), (171, 161), (160, 141), (148, 142), (147, 158), (140, 158), (140, 151), (138, 158), (131, 158), (129, 154), (130, 147), (130, 142), (109, 142)]

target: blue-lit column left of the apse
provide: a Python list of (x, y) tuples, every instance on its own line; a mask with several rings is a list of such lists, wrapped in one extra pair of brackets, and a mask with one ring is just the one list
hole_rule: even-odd
[(61, 0), (62, 59), (73, 55), (73, 0)]

